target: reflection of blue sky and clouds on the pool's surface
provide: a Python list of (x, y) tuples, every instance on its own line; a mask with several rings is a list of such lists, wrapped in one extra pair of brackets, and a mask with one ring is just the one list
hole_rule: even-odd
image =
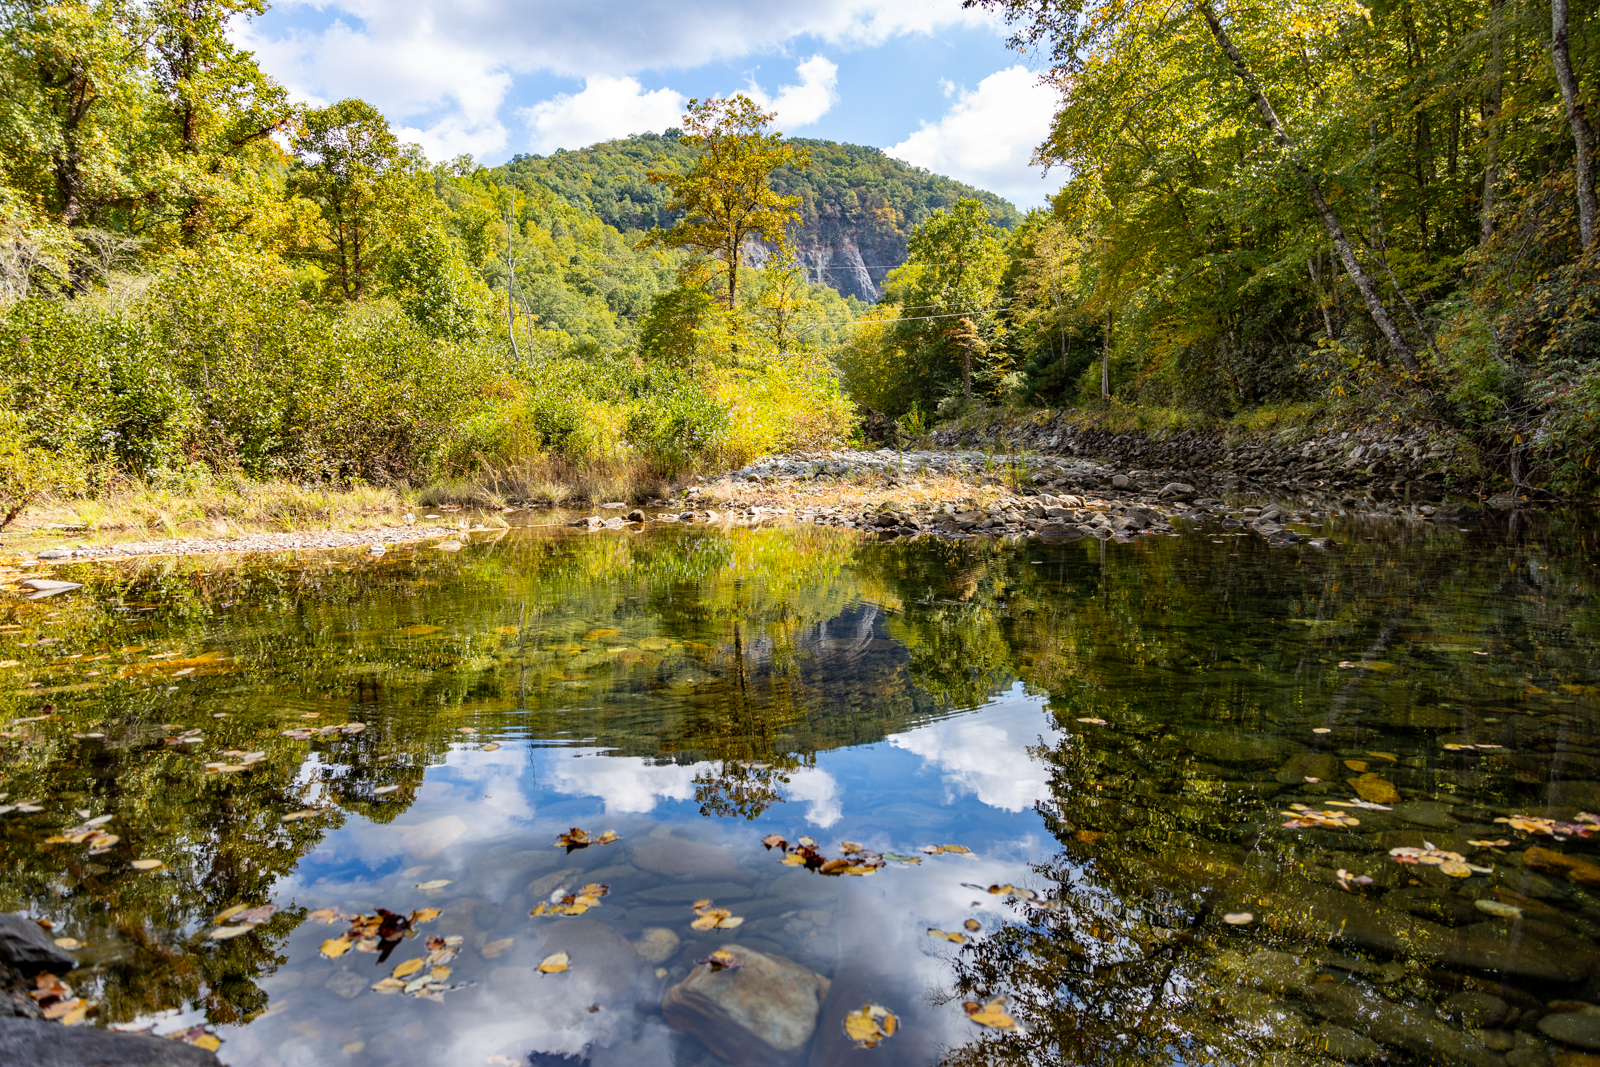
[[(659, 1014), (637, 1013), (634, 1005), (659, 1003), (666, 984), (682, 976), (683, 960), (714, 944), (686, 941), (693, 952), (669, 960), (678, 969), (662, 981), (626, 939), (637, 941), (648, 926), (667, 926), (688, 939), (688, 904), (694, 886), (706, 881), (738, 886), (747, 897), (728, 905), (734, 913), (752, 909), (758, 915), (723, 941), (749, 941), (824, 973), (834, 969), (832, 945), (843, 944), (835, 977), (851, 966), (846, 931), (870, 929), (874, 958), (890, 965), (899, 982), (899, 992), (888, 993), (904, 1000), (896, 1006), (920, 1013), (914, 1021), (930, 1038), (965, 1041), (971, 1027), (958, 1005), (931, 1008), (920, 998), (928, 987), (947, 989), (947, 957), (955, 950), (931, 942), (925, 929), (958, 929), (968, 917), (998, 923), (1006, 905), (960, 883), (1027, 883), (1026, 864), (1053, 851), (1032, 811), (1034, 800), (1046, 793), (1046, 773), (1027, 749), (1042, 736), (1054, 736), (1042, 701), (1013, 689), (984, 709), (880, 744), (818, 753), (816, 766), (790, 773), (787, 801), (749, 822), (699, 814), (693, 779), (709, 769), (706, 763), (667, 765), (512, 741), (496, 752), (458, 749), (445, 766), (429, 769), (398, 822), (350, 819), (330, 833), (280, 883), (277, 902), (363, 912), (442, 907), (440, 920), (422, 929), (466, 937), (451, 981), (474, 985), (450, 993), (442, 1005), (365, 992), (400, 960), (421, 955), (421, 939), (403, 942), (382, 966), (376, 957), (354, 952), (330, 963), (317, 955), (317, 945), (339, 928), (306, 923), (285, 945), (288, 963), (262, 984), (272, 995), (269, 1014), (250, 1027), (222, 1030), (224, 1059), (237, 1067), (339, 1061), (454, 1067), (485, 1064), (488, 1056), (525, 1062), (530, 1051), (587, 1049), (592, 1067), (670, 1064), (675, 1038)], [(565, 857), (550, 841), (573, 825), (616, 829), (624, 841)], [(837, 838), (848, 837), (898, 853), (963, 843), (976, 856), (930, 857), (922, 867), (890, 869), (872, 878), (821, 878), (786, 869), (762, 849), (760, 838), (771, 832), (790, 840), (816, 833), (829, 853), (837, 851)], [(690, 864), (704, 857), (709, 867), (685, 869), (680, 877), (632, 867), (606, 873), (624, 864), (646, 865), (643, 851), (634, 849), (656, 849), (658, 862), (661, 854), (683, 856)], [(571, 870), (573, 888), (590, 872), (614, 883), (592, 920), (526, 917), (534, 902), (528, 886), (560, 870)], [(414, 889), (435, 878), (453, 885), (432, 896)], [(645, 889), (651, 899), (642, 901), (629, 891), (630, 878), (659, 885), (654, 893)], [(675, 885), (685, 886), (682, 901), (672, 896)], [(979, 896), (982, 901), (974, 901)], [(832, 926), (816, 931), (822, 942), (797, 941), (784, 928), (790, 920), (773, 913), (773, 899), (792, 901), (781, 905), (787, 913), (830, 913)], [(677, 905), (682, 921), (670, 918)], [(643, 921), (629, 918), (630, 910)], [(514, 939), (504, 955), (486, 960), (477, 952), (502, 937)], [(816, 944), (827, 947), (818, 950)], [(539, 976), (533, 968), (555, 950), (571, 953), (571, 971)], [(344, 981), (363, 990), (349, 1000), (328, 989), (346, 971)], [(819, 1025), (837, 1027), (840, 1021), (824, 1017)], [(357, 1043), (363, 1046), (358, 1053), (341, 1051)]]

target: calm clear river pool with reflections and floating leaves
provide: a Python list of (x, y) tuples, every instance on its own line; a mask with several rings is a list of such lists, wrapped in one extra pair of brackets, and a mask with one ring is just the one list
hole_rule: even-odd
[[(1600, 811), (1590, 530), (1330, 528), (1331, 553), (1224, 530), (512, 531), (459, 555), (78, 568), (88, 589), (0, 616), (0, 792), (43, 806), (0, 817), (0, 907), (86, 942), (72, 981), (102, 1022), (210, 1022), (230, 1064), (712, 1067), (659, 1005), (718, 945), (832, 979), (813, 1064), (1339, 1062), (1328, 1024), (1354, 1016), (1326, 989), (1462, 1035), (1462, 990), (1525, 1019), (1597, 998), (1600, 904), (1523, 857), (1600, 862), (1594, 841), (1494, 822)], [(166, 744), (186, 729), (203, 739)], [(264, 757), (205, 769), (227, 752)], [(1362, 774), (1389, 811), (1330, 805)], [(1285, 829), (1294, 803), (1358, 824)], [(120, 840), (45, 843), (78, 811)], [(566, 854), (571, 827), (621, 840)], [(826, 878), (768, 833), (973, 854)], [(1491, 838), (1510, 845), (1469, 845)], [(1389, 856), (1424, 843), (1493, 872)], [(528, 917), (587, 881), (600, 907)], [(1059, 910), (970, 888), (1006, 883)], [(702, 897), (744, 925), (693, 931)], [(307, 912), (378, 907), (440, 915), (382, 963), (320, 955), (344, 926)], [(968, 918), (968, 945), (926, 934)], [(461, 989), (370, 990), (429, 934), (462, 939)], [(558, 950), (570, 969), (538, 974)], [(1019, 1032), (966, 1019), (994, 995)], [(866, 1000), (902, 1029), (848, 1051)]]

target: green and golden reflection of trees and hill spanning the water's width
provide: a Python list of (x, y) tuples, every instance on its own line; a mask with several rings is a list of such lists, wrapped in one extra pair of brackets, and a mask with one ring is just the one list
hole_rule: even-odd
[[(189, 558), (99, 576), (86, 595), (0, 616), (22, 627), (0, 653), (45, 683), (0, 689), (0, 715), (61, 707), (58, 721), (0, 739), (0, 792), (40, 797), (53, 813), (117, 814), (123, 843), (115, 865), (96, 864), (74, 846), (40, 843), (66, 816), (8, 816), (0, 907), (118, 945), (99, 965), (107, 1019), (186, 1003), (214, 1021), (248, 1017), (266, 1003), (254, 979), (282, 961), (277, 945), (294, 917), (229, 942), (195, 934), (232, 904), (264, 902), (339, 811), (379, 822), (405, 813), (426, 768), (461, 741), (458, 728), (566, 731), (621, 753), (710, 760), (715, 771), (696, 782), (704, 809), (750, 817), (816, 752), (979, 705), (1021, 678), (1050, 694), (1064, 723), (1117, 718), (1123, 733), (1117, 745), (1078, 734), (1077, 747), (1050, 755), (1061, 806), (1048, 814), (1062, 838), (1051, 877), (1070, 907), (984, 942), (962, 981), (1013, 990), (1035, 1033), (1082, 1048), (1082, 1062), (1117, 1048), (1114, 1021), (1146, 1016), (1152, 1022), (1134, 1037), (1150, 1041), (1154, 1059), (1181, 1049), (1198, 1061), (1213, 1016), (1197, 1014), (1189, 993), (1154, 992), (1174, 987), (1157, 981), (1168, 966), (1184, 989), (1203, 985), (1197, 950), (1182, 941), (1194, 915), (1173, 891), (1152, 889), (1149, 857), (1174, 841), (1189, 841), (1179, 849), (1189, 853), (1206, 840), (1237, 848), (1229, 835), (1253, 808), (1189, 752), (1195, 729), (1275, 729), (1325, 709), (1336, 686), (1349, 693), (1347, 715), (1387, 721), (1445, 696), (1483, 701), (1483, 673), (1592, 680), (1592, 547), (1528, 526), (1501, 539), (1488, 525), (1466, 547), (1437, 531), (1336, 537), (1346, 544), (1334, 553), (1285, 555), (1234, 539), (1178, 550), (1160, 539), (1110, 545), (1101, 558), (1099, 544), (904, 547), (814, 528), (662, 531), (507, 537), (456, 558)], [(1419, 598), (1422, 589), (1451, 595)], [(1333, 664), (1370, 648), (1400, 608), (1386, 657), (1416, 667), (1413, 680), (1339, 675)], [(416, 625), (442, 629), (403, 633)], [(590, 637), (602, 630), (614, 635)], [(40, 638), (59, 643), (34, 646)], [(1485, 667), (1430, 651), (1450, 640), (1494, 659)], [(85, 664), (67, 656), (109, 653), (110, 677), (117, 664), (146, 662), (117, 654), (139, 645), (219, 649), (229, 661), (182, 681), (152, 669), (99, 689), (64, 688), (88, 681)], [(219, 710), (230, 717), (213, 720)], [(322, 718), (301, 720), (307, 712)], [(312, 742), (280, 736), (346, 718), (368, 729)], [(163, 723), (203, 726), (205, 755), (165, 745), (173, 731)], [(202, 763), (219, 749), (269, 758), (248, 774), (206, 776)], [(1542, 779), (1459, 781), (1493, 793)], [(379, 797), (382, 785), (400, 790)], [(1134, 801), (1134, 790), (1184, 801)], [(338, 811), (280, 822), (318, 797)], [(1080, 830), (1122, 837), (1090, 846), (1074, 837)], [(134, 854), (170, 870), (128, 872)], [(1093, 880), (1066, 877), (1090, 857)], [(1021, 1048), (1018, 1038), (998, 1045)], [(1027, 1048), (1045, 1056), (1045, 1038)]]

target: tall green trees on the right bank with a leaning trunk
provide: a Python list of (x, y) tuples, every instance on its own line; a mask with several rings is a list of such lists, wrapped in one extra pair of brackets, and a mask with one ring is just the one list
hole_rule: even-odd
[[(1077, 285), (1058, 314), (1008, 282), (1026, 397), (1098, 394), (1088, 365), (1066, 386), (1064, 355), (1098, 322), (1125, 400), (1230, 414), (1331, 395), (1461, 434), (1515, 483), (1595, 485), (1600, 307), (1574, 187), (1592, 168), (1549, 6), (974, 2), (1062, 90), (1040, 154), (1072, 181), (1045, 274)], [(1600, 58), (1595, 13), (1571, 5), (1576, 70)], [(1013, 243), (1013, 280), (1038, 277), (1035, 243)]]

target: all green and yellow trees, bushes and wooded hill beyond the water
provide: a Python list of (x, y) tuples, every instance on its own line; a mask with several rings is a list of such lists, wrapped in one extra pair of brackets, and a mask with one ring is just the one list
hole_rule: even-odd
[[(429, 162), (293, 104), (227, 35), (261, 0), (5, 0), (0, 520), (208, 478), (643, 499), (858, 405), (1350, 408), (1594, 488), (1592, 5), (979, 6), (1054, 62), (1070, 181), (1026, 216), (742, 98)], [(901, 266), (846, 285), (846, 246)]]

